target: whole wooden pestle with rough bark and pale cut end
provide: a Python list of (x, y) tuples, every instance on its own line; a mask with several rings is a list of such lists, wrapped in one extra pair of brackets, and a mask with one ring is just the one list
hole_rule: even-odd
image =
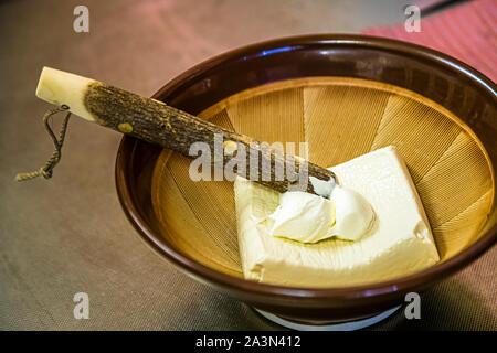
[[(293, 163), (295, 173), (298, 173), (300, 168), (305, 168), (305, 163), (307, 163), (306, 178), (315, 176), (325, 181), (335, 178), (331, 171), (298, 157), (285, 156), (283, 152), (275, 150), (268, 151), (264, 149), (264, 146), (245, 135), (226, 130), (156, 99), (141, 97), (74, 74), (44, 67), (36, 96), (52, 104), (66, 105), (72, 113), (82, 118), (147, 142), (159, 145), (189, 158), (192, 158), (189, 152), (193, 142), (205, 142), (212, 152), (210, 160), (216, 168), (224, 168), (228, 162), (235, 158), (234, 151), (241, 143), (246, 150), (245, 165), (247, 167), (240, 170), (234, 169), (234, 172), (278, 192), (285, 192), (289, 185), (298, 183), (286, 173), (286, 164), (289, 162)], [(214, 158), (216, 133), (222, 135), (224, 141), (222, 158), (218, 160)], [(248, 168), (251, 165), (251, 153), (257, 156), (260, 161), (256, 170), (254, 168), (252, 172)], [(266, 163), (261, 162), (264, 159)], [(271, 165), (271, 178), (262, 178), (261, 165)], [(277, 174), (276, 171), (278, 170), (285, 171), (284, 175)], [(254, 180), (254, 175), (256, 175), (256, 180)], [(307, 186), (307, 192), (315, 193), (308, 179), (304, 184)]]

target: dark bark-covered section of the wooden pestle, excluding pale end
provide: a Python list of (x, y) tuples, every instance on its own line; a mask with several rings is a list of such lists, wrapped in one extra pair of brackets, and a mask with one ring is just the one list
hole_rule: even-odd
[[(209, 167), (212, 169), (209, 174), (214, 173), (213, 169), (215, 168), (226, 170), (233, 162), (236, 164), (242, 162), (245, 168), (232, 169), (239, 176), (256, 181), (277, 192), (286, 192), (293, 185), (302, 185), (300, 191), (314, 194), (315, 190), (308, 178), (313, 176), (324, 181), (335, 179), (331, 171), (320, 165), (307, 161), (303, 163), (299, 158), (293, 154), (298, 151), (285, 156), (281, 150), (271, 149), (269, 146), (264, 147), (262, 142), (266, 142), (266, 140), (254, 139), (250, 135), (242, 135), (158, 100), (145, 98), (101, 82), (87, 86), (84, 93), (84, 101), (86, 109), (98, 125), (173, 150), (189, 160), (191, 159), (190, 149), (193, 143), (203, 142), (208, 145), (210, 151)], [(283, 104), (286, 103), (283, 101)], [(281, 113), (275, 110), (274, 115), (283, 113), (286, 117), (285, 111), (285, 109)], [(257, 116), (257, 114), (252, 114), (252, 116)], [(271, 131), (271, 126), (267, 127), (267, 130)], [(222, 141), (224, 141), (221, 142), (220, 147), (216, 147), (215, 135), (221, 136)], [(235, 151), (243, 148), (245, 152), (241, 156), (244, 157), (240, 158), (237, 152), (228, 152), (224, 143), (230, 142), (235, 146)], [(216, 152), (218, 148), (221, 148), (220, 152)], [(221, 156), (218, 157), (215, 153), (221, 153)], [(254, 156), (260, 162), (252, 167), (251, 159)], [(262, 165), (269, 167), (263, 170)], [(297, 175), (304, 178), (305, 181), (296, 179)]]

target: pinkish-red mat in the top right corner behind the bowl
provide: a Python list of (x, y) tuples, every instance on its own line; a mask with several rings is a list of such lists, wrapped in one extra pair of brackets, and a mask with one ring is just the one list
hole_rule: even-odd
[(476, 0), (421, 19), (421, 32), (403, 24), (367, 29), (387, 36), (444, 52), (497, 82), (497, 0)]

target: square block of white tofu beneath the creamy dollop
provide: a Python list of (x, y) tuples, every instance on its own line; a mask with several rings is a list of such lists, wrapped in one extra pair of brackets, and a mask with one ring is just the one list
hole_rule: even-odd
[(331, 170), (341, 185), (362, 195), (374, 210), (372, 228), (360, 240), (331, 238), (303, 244), (272, 236), (267, 218), (279, 205), (279, 194), (236, 179), (237, 234), (245, 278), (284, 286), (339, 287), (400, 277), (438, 261), (420, 197), (393, 147)]

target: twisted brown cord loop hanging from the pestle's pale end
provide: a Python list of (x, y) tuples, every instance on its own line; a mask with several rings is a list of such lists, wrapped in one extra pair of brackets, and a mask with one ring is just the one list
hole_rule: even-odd
[(54, 109), (46, 111), (43, 115), (43, 124), (45, 126), (45, 130), (49, 132), (50, 137), (52, 138), (53, 145), (54, 145), (54, 151), (52, 153), (52, 157), (45, 162), (45, 164), (43, 167), (40, 167), (40, 169), (32, 171), (32, 172), (17, 174), (15, 175), (17, 181), (31, 180), (31, 179), (34, 179), (38, 176), (43, 176), (44, 179), (52, 178), (53, 169), (61, 160), (62, 146), (64, 145), (65, 131), (67, 130), (67, 122), (71, 117), (71, 111), (67, 113), (67, 115), (64, 117), (64, 120), (62, 121), (62, 127), (61, 127), (61, 131), (59, 132), (59, 138), (53, 132), (49, 120), (55, 114), (68, 110), (68, 108), (70, 107), (67, 107), (66, 105), (62, 105), (60, 107), (56, 107)]

